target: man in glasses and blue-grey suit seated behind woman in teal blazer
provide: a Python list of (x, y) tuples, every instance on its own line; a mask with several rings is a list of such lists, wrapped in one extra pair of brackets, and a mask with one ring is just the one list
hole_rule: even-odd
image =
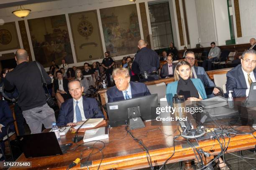
[[(205, 87), (215, 87), (214, 82), (210, 80), (205, 69), (203, 67), (195, 66), (195, 53), (193, 51), (187, 51), (185, 55), (185, 61), (189, 62), (192, 68), (193, 78), (199, 78)], [(214, 88), (212, 95), (207, 95), (207, 98), (214, 97), (220, 92), (218, 88)]]

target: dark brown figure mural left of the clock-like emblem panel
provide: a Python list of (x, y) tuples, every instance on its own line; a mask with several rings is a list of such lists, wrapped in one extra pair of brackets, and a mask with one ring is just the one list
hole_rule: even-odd
[(28, 20), (35, 58), (44, 67), (50, 67), (51, 60), (61, 64), (64, 58), (74, 63), (65, 15), (56, 15)]

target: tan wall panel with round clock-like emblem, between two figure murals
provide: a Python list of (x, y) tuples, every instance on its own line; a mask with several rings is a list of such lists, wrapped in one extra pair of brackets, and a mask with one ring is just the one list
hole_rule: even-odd
[(103, 58), (97, 11), (69, 14), (77, 62)]

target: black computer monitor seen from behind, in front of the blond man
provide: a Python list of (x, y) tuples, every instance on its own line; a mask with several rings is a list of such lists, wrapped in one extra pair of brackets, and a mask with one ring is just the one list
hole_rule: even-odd
[[(128, 120), (128, 109), (138, 107), (140, 117), (143, 121), (156, 118), (156, 107), (158, 107), (157, 94), (136, 97), (128, 100), (107, 103), (108, 120), (110, 127), (125, 125)], [(154, 110), (151, 110), (154, 109)], [(152, 115), (152, 116), (151, 116)]]

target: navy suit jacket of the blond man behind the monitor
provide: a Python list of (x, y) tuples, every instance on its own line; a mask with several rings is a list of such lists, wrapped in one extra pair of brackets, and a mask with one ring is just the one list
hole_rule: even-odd
[[(148, 87), (141, 82), (130, 82), (132, 97), (141, 97), (145, 95), (151, 95)], [(123, 92), (118, 90), (116, 86), (111, 87), (107, 90), (108, 102), (115, 102), (120, 100), (125, 100), (123, 97)]]

